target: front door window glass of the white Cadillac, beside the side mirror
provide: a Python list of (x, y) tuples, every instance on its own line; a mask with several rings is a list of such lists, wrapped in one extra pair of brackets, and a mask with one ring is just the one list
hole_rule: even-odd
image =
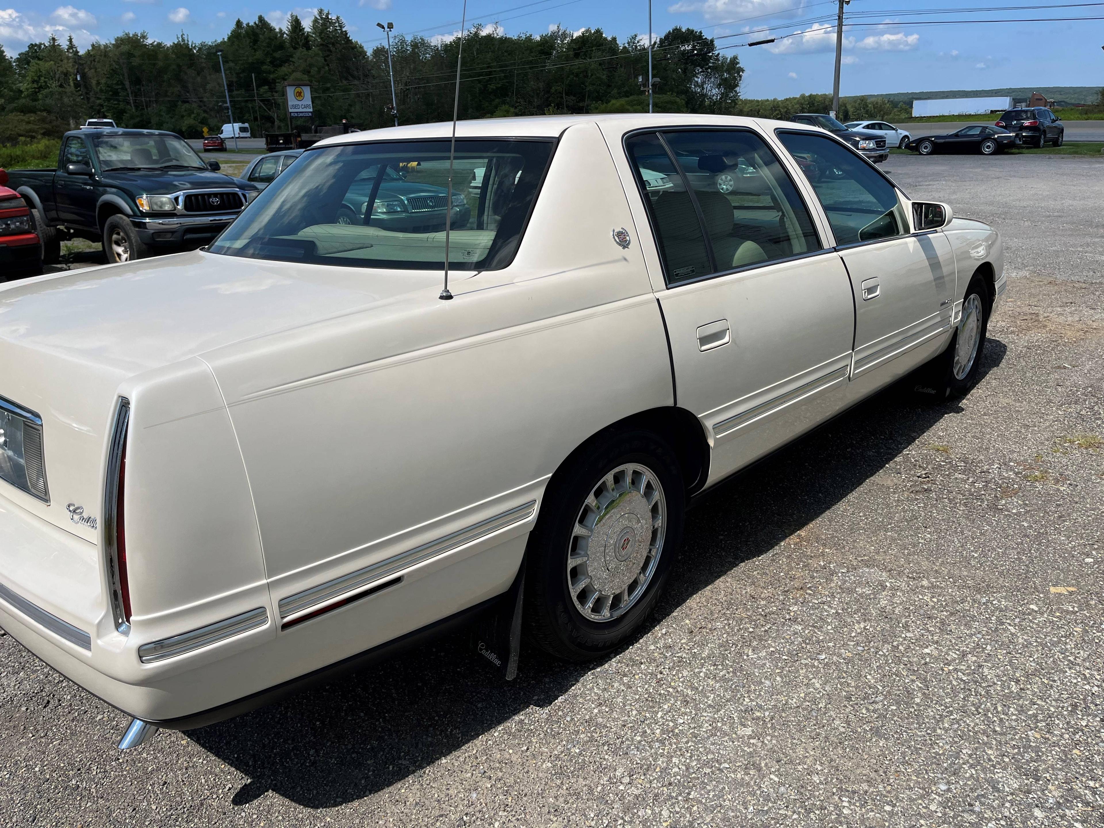
[(839, 141), (809, 132), (779, 132), (820, 199), (836, 244), (890, 238), (907, 232), (896, 190)]

